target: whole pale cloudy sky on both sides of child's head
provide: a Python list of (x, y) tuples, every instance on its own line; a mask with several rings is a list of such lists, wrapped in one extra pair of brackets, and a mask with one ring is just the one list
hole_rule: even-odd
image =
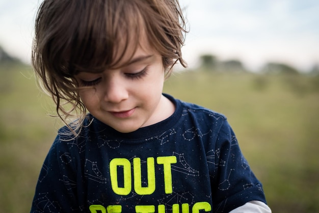
[[(211, 54), (240, 60), (252, 71), (267, 62), (301, 71), (319, 64), (317, 0), (179, 0), (188, 20), (182, 54), (189, 67)], [(30, 62), (33, 26), (40, 0), (0, 0), (0, 45)]]

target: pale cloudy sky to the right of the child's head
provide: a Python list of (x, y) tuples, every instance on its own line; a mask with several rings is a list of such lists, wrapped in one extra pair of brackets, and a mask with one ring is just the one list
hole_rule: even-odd
[[(198, 1), (199, 2), (199, 1)], [(211, 52), (258, 69), (267, 61), (299, 69), (319, 63), (319, 2), (299, 0), (202, 0), (188, 5), (191, 33), (185, 57)]]

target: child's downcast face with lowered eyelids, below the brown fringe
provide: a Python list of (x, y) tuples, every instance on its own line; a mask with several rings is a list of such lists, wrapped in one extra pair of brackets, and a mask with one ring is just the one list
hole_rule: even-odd
[[(80, 72), (75, 78), (87, 110), (101, 122), (120, 132), (131, 132), (155, 124), (174, 112), (162, 95), (165, 70), (161, 55), (148, 42), (140, 46), (129, 64), (102, 73)], [(121, 61), (125, 62), (125, 54)]]

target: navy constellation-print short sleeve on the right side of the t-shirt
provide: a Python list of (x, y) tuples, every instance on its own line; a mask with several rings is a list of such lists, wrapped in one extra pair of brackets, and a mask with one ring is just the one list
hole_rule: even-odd
[(243, 156), (227, 120), (219, 131), (215, 152), (217, 175), (211, 184), (214, 212), (229, 212), (252, 200), (266, 203), (262, 185)]

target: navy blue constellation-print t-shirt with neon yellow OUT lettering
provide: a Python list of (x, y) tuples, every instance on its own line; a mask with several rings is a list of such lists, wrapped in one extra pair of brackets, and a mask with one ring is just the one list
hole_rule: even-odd
[(166, 95), (175, 113), (121, 133), (88, 115), (59, 130), (31, 212), (229, 212), (265, 202), (225, 116)]

